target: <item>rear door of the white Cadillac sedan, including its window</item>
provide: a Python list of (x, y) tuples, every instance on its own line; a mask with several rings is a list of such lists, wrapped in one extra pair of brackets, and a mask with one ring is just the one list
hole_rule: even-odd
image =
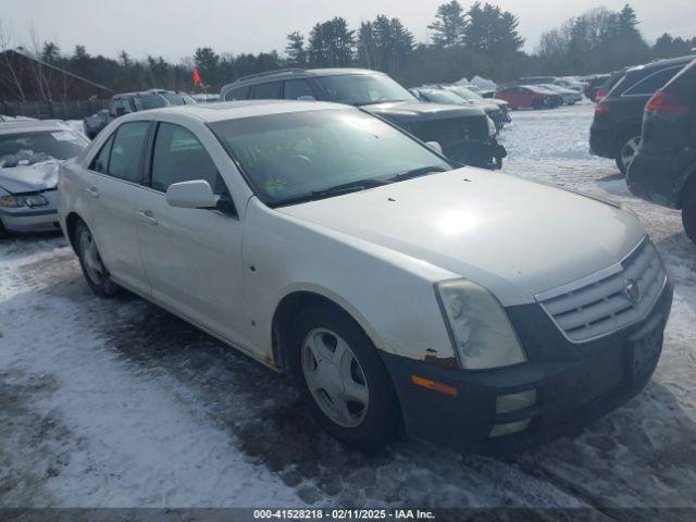
[(99, 252), (116, 281), (149, 294), (138, 249), (136, 199), (150, 122), (127, 122), (109, 137), (89, 164), (86, 217)]

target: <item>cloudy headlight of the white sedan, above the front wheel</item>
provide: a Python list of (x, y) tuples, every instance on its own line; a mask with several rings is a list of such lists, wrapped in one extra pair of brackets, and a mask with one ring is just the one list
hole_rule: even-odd
[(508, 315), (482, 286), (465, 279), (435, 285), (461, 368), (484, 370), (526, 361)]

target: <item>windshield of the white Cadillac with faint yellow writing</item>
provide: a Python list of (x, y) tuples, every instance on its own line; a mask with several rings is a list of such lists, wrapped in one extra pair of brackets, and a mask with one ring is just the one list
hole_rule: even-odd
[(291, 112), (209, 126), (272, 207), (345, 184), (364, 181), (366, 188), (366, 182), (420, 169), (452, 169), (426, 146), (360, 111)]

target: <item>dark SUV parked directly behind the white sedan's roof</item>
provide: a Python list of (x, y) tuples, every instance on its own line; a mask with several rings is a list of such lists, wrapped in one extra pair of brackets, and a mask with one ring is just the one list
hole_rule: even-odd
[(425, 103), (383, 73), (362, 69), (291, 69), (245, 76), (222, 88), (222, 100), (334, 101), (359, 107), (422, 141), (437, 141), (459, 163), (500, 169), (505, 148), (480, 107)]

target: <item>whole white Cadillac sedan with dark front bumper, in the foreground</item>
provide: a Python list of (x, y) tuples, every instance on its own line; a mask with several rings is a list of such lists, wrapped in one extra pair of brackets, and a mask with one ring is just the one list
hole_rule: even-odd
[(351, 446), (518, 450), (638, 393), (672, 284), (636, 217), (434, 148), (331, 103), (138, 112), (61, 166), (60, 223), (97, 294), (293, 374)]

